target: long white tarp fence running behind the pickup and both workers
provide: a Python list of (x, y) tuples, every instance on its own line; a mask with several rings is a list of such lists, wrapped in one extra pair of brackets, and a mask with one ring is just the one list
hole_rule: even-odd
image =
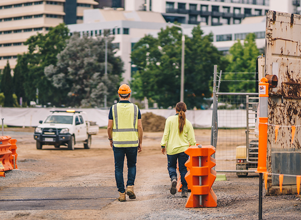
[[(4, 118), (4, 125), (8, 126), (38, 126), (40, 120), (44, 120), (50, 111), (66, 110), (66, 108), (0, 108), (0, 118)], [(108, 125), (109, 110), (99, 109), (75, 109), (85, 111), (88, 121), (95, 121), (100, 127)], [(218, 110), (217, 115), (224, 117), (225, 111), (227, 114), (246, 115), (246, 110)], [(152, 112), (153, 114), (163, 116), (174, 115), (175, 110), (167, 109), (150, 109), (141, 110), (141, 114)], [(223, 112), (223, 113), (222, 113)], [(187, 110), (186, 118), (192, 123), (195, 128), (210, 128), (212, 121), (212, 110)], [(229, 120), (227, 120), (229, 118)], [(218, 127), (245, 127), (246, 120), (241, 120), (243, 117), (227, 117), (226, 120), (220, 120), (222, 124)], [(246, 117), (244, 117), (246, 118)]]

